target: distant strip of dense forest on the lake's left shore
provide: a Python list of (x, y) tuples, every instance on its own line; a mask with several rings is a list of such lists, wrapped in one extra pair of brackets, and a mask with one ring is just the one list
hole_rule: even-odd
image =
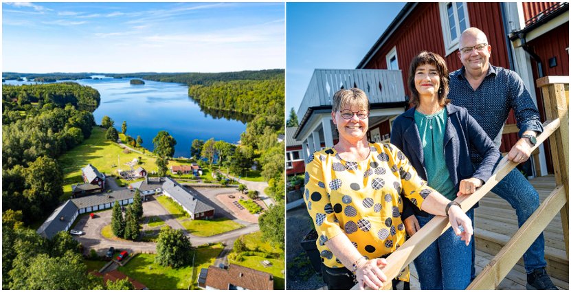
[(53, 103), (63, 107), (71, 104), (79, 109), (95, 111), (100, 103), (96, 89), (75, 82), (60, 82), (43, 85), (2, 85), (2, 104), (16, 102), (22, 106), (32, 102), (41, 105)]

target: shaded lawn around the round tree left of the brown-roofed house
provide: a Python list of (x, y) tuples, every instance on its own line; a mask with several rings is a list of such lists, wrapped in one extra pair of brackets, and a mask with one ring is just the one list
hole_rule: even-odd
[(181, 290), (192, 287), (196, 282), (200, 269), (214, 264), (216, 256), (222, 251), (221, 245), (199, 247), (194, 258), (194, 273), (192, 267), (173, 269), (162, 267), (155, 263), (155, 254), (137, 254), (124, 267), (118, 270), (125, 275), (143, 283), (151, 290)]

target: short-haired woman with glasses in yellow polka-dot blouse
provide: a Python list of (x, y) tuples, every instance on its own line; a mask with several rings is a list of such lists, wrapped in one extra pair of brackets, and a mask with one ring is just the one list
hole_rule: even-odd
[[(304, 200), (319, 235), (328, 289), (383, 287), (384, 258), (405, 241), (401, 193), (421, 210), (449, 215), (466, 245), (471, 239), (471, 221), (457, 203), (429, 188), (398, 148), (367, 141), (368, 115), (361, 89), (337, 91), (331, 117), (339, 142), (313, 153), (306, 164)], [(408, 271), (398, 278), (407, 281)]]

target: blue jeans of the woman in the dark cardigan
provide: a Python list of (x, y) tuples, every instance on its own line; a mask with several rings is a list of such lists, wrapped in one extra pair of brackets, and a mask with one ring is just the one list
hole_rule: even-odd
[[(473, 221), (474, 210), (466, 214)], [(434, 218), (416, 216), (421, 228)], [(460, 227), (462, 230), (462, 227)], [(449, 228), (432, 245), (414, 260), (414, 267), (418, 272), (418, 280), (423, 290), (464, 290), (471, 282), (472, 263), (471, 254), (473, 238), (469, 246), (460, 240)]]

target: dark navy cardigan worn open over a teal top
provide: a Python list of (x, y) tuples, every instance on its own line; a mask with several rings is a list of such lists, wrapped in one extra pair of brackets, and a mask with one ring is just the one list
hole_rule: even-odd
[[(403, 151), (416, 172), (418, 172), (418, 175), (426, 181), (427, 176), (421, 135), (418, 133), (416, 122), (414, 122), (415, 110), (416, 108), (413, 107), (396, 117), (392, 126), (390, 142)], [(443, 148), (446, 166), (452, 183), (458, 190), (462, 179), (475, 177), (485, 182), (491, 177), (494, 166), (500, 158), (500, 150), (495, 147), (492, 140), (486, 135), (478, 122), (469, 115), (466, 109), (447, 104), (446, 110), (448, 119), (446, 121)], [(480, 167), (475, 171), (470, 160), (470, 145), (484, 157)], [(401, 214), (403, 220), (412, 214), (428, 216), (428, 213), (412, 205), (404, 196), (403, 199), (404, 209), (403, 214)]]

